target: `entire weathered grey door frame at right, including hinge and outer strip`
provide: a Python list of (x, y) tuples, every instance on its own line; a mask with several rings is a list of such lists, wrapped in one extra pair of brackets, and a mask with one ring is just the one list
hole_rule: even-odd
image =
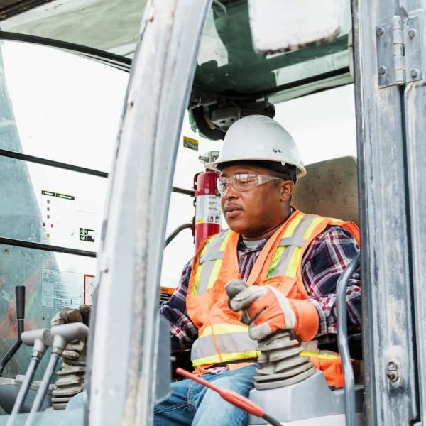
[[(424, 97), (425, 89), (421, 81), (407, 81), (410, 70), (405, 70), (404, 81), (389, 77), (384, 82), (386, 79), (382, 77), (387, 72), (396, 73), (397, 60), (405, 60), (400, 55), (404, 50), (398, 53), (398, 36), (409, 40), (405, 35), (409, 29), (408, 16), (415, 9), (424, 9), (425, 1), (352, 0), (351, 5), (361, 213), (365, 414), (368, 425), (412, 425), (420, 420), (420, 410), (425, 418), (425, 395), (420, 396), (419, 388), (420, 382), (425, 382), (425, 375), (419, 376), (418, 371), (419, 361), (425, 361), (425, 354), (423, 351), (420, 358), (418, 349), (420, 346), (425, 349), (425, 326), (420, 324), (419, 314), (422, 312), (424, 318), (426, 312), (425, 295), (420, 294), (426, 246), (424, 224), (415, 221), (421, 210), (425, 212), (425, 200), (417, 204), (413, 198), (415, 191), (425, 194), (417, 179), (421, 159), (416, 160), (413, 155), (416, 150), (425, 153), (425, 148), (420, 148), (425, 118), (419, 119), (419, 110), (410, 109), (407, 128), (405, 103), (410, 84), (414, 84), (415, 89), (409, 96), (417, 96), (416, 102)], [(420, 16), (424, 21), (423, 11)], [(422, 48), (424, 45), (423, 38)], [(400, 58), (396, 58), (397, 55)], [(384, 67), (383, 58), (392, 64), (391, 69)], [(422, 72), (425, 75), (424, 70)], [(415, 123), (414, 117), (420, 124)], [(417, 251), (420, 246), (422, 251)], [(423, 258), (415, 251), (422, 253)], [(412, 309), (415, 302), (416, 311)], [(422, 404), (419, 404), (420, 398)]]

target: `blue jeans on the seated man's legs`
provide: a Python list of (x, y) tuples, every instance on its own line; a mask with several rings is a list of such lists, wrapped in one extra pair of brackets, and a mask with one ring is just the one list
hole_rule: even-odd
[[(257, 364), (220, 374), (205, 373), (202, 378), (248, 398), (256, 367)], [(170, 397), (154, 407), (155, 426), (242, 426), (247, 424), (247, 417), (246, 412), (223, 400), (217, 392), (190, 379), (172, 383)]]

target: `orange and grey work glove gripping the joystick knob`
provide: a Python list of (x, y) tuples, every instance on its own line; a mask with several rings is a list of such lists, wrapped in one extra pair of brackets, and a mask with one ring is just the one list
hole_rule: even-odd
[(270, 285), (246, 287), (241, 280), (231, 280), (225, 289), (231, 310), (243, 311), (240, 320), (249, 325), (251, 339), (261, 341), (283, 329), (292, 329), (302, 342), (317, 334), (318, 313), (307, 300), (289, 299)]

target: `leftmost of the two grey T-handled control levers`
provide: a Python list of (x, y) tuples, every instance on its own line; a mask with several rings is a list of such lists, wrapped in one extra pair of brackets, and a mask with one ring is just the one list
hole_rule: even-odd
[(6, 426), (13, 425), (14, 417), (21, 412), (21, 408), (26, 400), (28, 391), (30, 390), (30, 386), (33, 382), (38, 364), (43, 358), (43, 355), (45, 354), (46, 349), (48, 349), (48, 346), (52, 344), (49, 329), (38, 329), (31, 330), (29, 332), (23, 332), (21, 339), (27, 346), (33, 346), (33, 354), (31, 355), (30, 364), (26, 371), (25, 378), (23, 379), (21, 389), (19, 389), (18, 396), (16, 397), (15, 404), (13, 405), (11, 417), (9, 417), (9, 421), (7, 422)]

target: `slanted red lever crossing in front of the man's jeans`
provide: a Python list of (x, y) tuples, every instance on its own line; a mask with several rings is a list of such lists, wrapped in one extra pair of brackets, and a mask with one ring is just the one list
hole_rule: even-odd
[(241, 410), (244, 410), (246, 413), (256, 415), (256, 417), (261, 417), (273, 426), (281, 426), (281, 423), (278, 422), (278, 420), (275, 420), (273, 417), (266, 415), (263, 409), (253, 403), (253, 401), (249, 400), (249, 398), (246, 398), (243, 395), (239, 395), (239, 393), (236, 393), (234, 391), (230, 391), (229, 389), (218, 388), (217, 386), (214, 386), (213, 383), (204, 380), (204, 378), (201, 378), (200, 376), (195, 376), (195, 374), (183, 370), (182, 368), (176, 368), (176, 373), (180, 374), (180, 376), (190, 378), (191, 380), (196, 381), (197, 383), (200, 383), (203, 386), (212, 389), (212, 391), (219, 393), (219, 395), (224, 400), (228, 401), (229, 403), (235, 405), (238, 408), (241, 408)]

